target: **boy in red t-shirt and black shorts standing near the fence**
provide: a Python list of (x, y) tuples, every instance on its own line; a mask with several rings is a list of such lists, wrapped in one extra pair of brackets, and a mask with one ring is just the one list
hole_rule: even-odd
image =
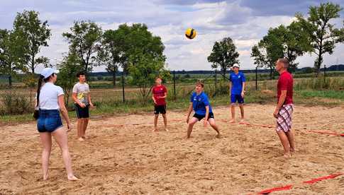
[(155, 86), (152, 88), (152, 99), (154, 102), (154, 130), (157, 131), (157, 118), (159, 117), (159, 114), (162, 114), (162, 117), (164, 118), (164, 124), (165, 124), (165, 131), (167, 130), (167, 117), (166, 117), (166, 102), (165, 99), (167, 98), (167, 89), (164, 85), (161, 84), (162, 79), (160, 77), (157, 77), (155, 79)]

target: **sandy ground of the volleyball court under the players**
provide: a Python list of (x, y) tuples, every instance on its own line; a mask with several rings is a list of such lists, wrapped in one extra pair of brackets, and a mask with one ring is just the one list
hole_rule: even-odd
[[(238, 111), (238, 108), (237, 108)], [(274, 105), (246, 105), (247, 120), (274, 124)], [(185, 111), (169, 111), (169, 132), (152, 131), (152, 114), (95, 117), (87, 141), (69, 134), (77, 182), (68, 182), (55, 141), (50, 179), (43, 181), (35, 123), (0, 126), (0, 194), (251, 194), (294, 184), (274, 194), (343, 194), (344, 137), (307, 130), (343, 132), (343, 107), (301, 107), (294, 112), (296, 155), (285, 159), (274, 129), (229, 124), (228, 107), (213, 109), (222, 138), (197, 123), (185, 139)], [(74, 123), (75, 127), (75, 123)]]

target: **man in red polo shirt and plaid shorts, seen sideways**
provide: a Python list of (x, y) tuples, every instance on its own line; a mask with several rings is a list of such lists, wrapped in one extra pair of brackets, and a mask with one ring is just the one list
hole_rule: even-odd
[(276, 70), (279, 73), (277, 83), (277, 106), (274, 110), (274, 117), (277, 119), (276, 131), (279, 140), (284, 148), (284, 157), (290, 157), (295, 151), (294, 135), (292, 133), (293, 105), (293, 77), (287, 71), (289, 61), (278, 59)]

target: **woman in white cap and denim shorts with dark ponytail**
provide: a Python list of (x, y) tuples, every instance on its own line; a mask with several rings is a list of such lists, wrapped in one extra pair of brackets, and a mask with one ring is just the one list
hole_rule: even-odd
[[(67, 144), (67, 131), (70, 131), (71, 124), (65, 107), (64, 93), (61, 87), (54, 85), (57, 80), (57, 71), (51, 68), (43, 69), (38, 80), (36, 107), (39, 108), (37, 129), (40, 132), (40, 140), (43, 144), (42, 167), (43, 179), (48, 179), (49, 158), (52, 145), (52, 136), (62, 150), (63, 162), (67, 170), (67, 179), (77, 180), (73, 175), (72, 162)], [(42, 81), (44, 85), (42, 86)], [(67, 131), (62, 129), (60, 117), (67, 122)]]

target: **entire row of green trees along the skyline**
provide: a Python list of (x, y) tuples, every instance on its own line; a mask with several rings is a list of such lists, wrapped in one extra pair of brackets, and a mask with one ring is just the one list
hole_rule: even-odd
[[(335, 28), (332, 19), (340, 18), (343, 8), (338, 4), (326, 3), (310, 6), (309, 16), (296, 13), (296, 20), (290, 25), (270, 28), (252, 48), (251, 57), (257, 67), (270, 69), (270, 78), (275, 61), (280, 57), (289, 59), (291, 69), (296, 69), (297, 57), (305, 53), (316, 54), (314, 70), (317, 75), (323, 63), (323, 54), (333, 54), (335, 45), (344, 42), (344, 28)], [(344, 21), (343, 21), (344, 25)], [(106, 66), (113, 75), (116, 85), (116, 72), (122, 68), (131, 74), (133, 82), (138, 83), (143, 96), (149, 93), (148, 86), (152, 77), (165, 73), (163, 54), (165, 46), (160, 37), (152, 35), (145, 24), (122, 24), (117, 29), (101, 30), (91, 21), (75, 21), (69, 32), (62, 34), (69, 45), (69, 51), (58, 64), (64, 78), (74, 79), (70, 70), (91, 72), (94, 66)], [(48, 47), (51, 30), (48, 21), (39, 19), (36, 11), (17, 13), (13, 30), (0, 29), (0, 73), (9, 75), (9, 85), (17, 73), (26, 73), (25, 83), (35, 85), (35, 68), (39, 64), (52, 66), (47, 57), (39, 56), (40, 49)], [(240, 63), (239, 53), (231, 37), (215, 42), (208, 61), (213, 69), (223, 73)], [(142, 66), (145, 64), (145, 66)], [(63, 74), (66, 75), (63, 75)], [(167, 74), (168, 76), (168, 74)], [(62, 81), (61, 81), (62, 82)], [(70, 82), (63, 82), (70, 83)], [(69, 85), (65, 88), (70, 88)]]

